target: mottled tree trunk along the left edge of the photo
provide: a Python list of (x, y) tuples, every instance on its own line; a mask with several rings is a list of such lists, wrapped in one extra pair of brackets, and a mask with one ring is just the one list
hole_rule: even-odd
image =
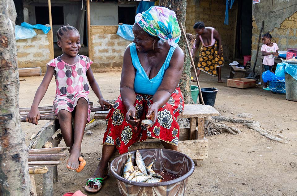
[(28, 150), (19, 121), (13, 0), (0, 1), (0, 195), (30, 195)]

